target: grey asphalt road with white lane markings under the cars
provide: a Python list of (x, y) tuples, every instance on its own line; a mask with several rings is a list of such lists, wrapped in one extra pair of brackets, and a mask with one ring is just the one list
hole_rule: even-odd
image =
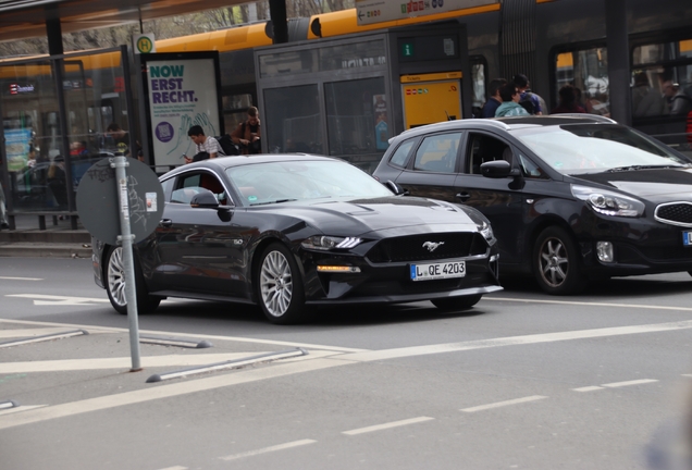
[[(82, 259), (0, 259), (0, 468), (647, 469), (683, 457), (692, 277), (578, 297), (512, 283), (466, 312), (429, 302), (321, 310), (276, 326), (232, 304), (164, 301), (141, 345)], [(1, 347), (57, 330), (79, 335)], [(4, 338), (2, 337), (4, 335)], [(152, 374), (296, 351), (168, 381)], [(658, 463), (648, 460), (657, 458)], [(679, 467), (689, 468), (689, 467)]]

